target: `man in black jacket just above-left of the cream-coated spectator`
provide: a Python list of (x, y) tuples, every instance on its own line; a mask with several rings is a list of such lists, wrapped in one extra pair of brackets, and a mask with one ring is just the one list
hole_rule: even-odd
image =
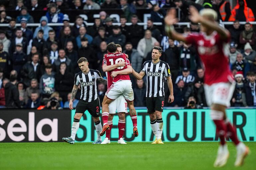
[(137, 48), (137, 45), (141, 38), (144, 36), (144, 29), (143, 26), (139, 26), (138, 23), (138, 17), (137, 15), (133, 15), (131, 18), (132, 25), (129, 26), (129, 32), (127, 41), (132, 43), (133, 48)]

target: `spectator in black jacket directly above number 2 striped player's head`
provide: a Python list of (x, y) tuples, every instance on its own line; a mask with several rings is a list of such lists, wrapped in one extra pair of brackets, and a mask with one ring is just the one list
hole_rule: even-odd
[(88, 60), (89, 68), (97, 68), (97, 58), (94, 49), (88, 46), (88, 40), (86, 37), (81, 38), (82, 47), (78, 50), (78, 58), (85, 57)]

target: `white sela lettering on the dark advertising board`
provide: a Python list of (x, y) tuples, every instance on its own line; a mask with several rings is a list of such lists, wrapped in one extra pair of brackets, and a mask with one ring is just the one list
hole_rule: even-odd
[[(6, 122), (0, 118), (0, 125), (3, 126), (5, 123)], [(45, 125), (51, 127), (51, 133), (49, 135), (43, 134), (42, 129)], [(44, 118), (35, 125), (35, 112), (29, 112), (28, 125), (24, 120), (15, 118), (8, 123), (6, 131), (0, 127), (0, 142), (5, 140), (7, 135), (14, 142), (23, 141), (25, 139), (24, 134), (27, 134), (27, 132), (28, 141), (35, 141), (35, 136), (42, 142), (58, 141), (58, 119), (51, 120), (49, 118)]]

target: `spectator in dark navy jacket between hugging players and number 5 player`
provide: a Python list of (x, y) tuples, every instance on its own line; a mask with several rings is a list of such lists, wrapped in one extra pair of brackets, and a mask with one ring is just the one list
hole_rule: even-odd
[(136, 80), (136, 85), (133, 88), (134, 92), (134, 106), (137, 107), (143, 107), (146, 106), (146, 86), (144, 84), (144, 81)]

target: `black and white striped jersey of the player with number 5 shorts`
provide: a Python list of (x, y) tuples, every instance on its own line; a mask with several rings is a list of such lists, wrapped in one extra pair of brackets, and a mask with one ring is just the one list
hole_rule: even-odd
[(169, 65), (161, 60), (158, 63), (149, 60), (143, 64), (141, 71), (145, 72), (147, 76), (146, 97), (165, 96), (165, 77), (171, 76)]

